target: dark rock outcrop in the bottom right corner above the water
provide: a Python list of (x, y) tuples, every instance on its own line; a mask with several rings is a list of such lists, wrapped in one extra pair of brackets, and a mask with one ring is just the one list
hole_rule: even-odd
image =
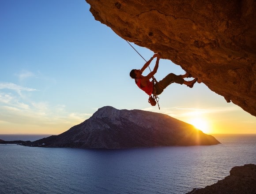
[(187, 194), (256, 194), (256, 165), (233, 167), (225, 179)]

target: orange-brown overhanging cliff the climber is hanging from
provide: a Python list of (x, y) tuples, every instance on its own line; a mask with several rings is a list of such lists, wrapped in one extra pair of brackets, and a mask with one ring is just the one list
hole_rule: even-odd
[(86, 1), (120, 37), (161, 52), (256, 116), (255, 0)]

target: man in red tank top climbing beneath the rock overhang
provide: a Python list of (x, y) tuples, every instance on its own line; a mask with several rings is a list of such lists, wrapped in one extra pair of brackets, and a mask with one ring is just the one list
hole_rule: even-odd
[[(151, 63), (151, 61), (157, 57), (156, 59), (156, 63), (154, 66), (154, 70), (151, 71), (147, 76), (143, 76), (142, 73), (143, 71), (149, 66), (149, 64)], [(161, 81), (156, 82), (155, 84), (153, 84), (153, 82), (150, 81), (151, 78), (154, 78), (154, 74), (157, 72), (158, 70), (158, 63), (160, 60), (160, 54), (156, 53), (153, 55), (153, 57), (151, 57), (151, 59), (149, 61), (147, 61), (143, 67), (139, 70), (139, 69), (132, 69), (132, 71), (130, 72), (130, 76), (131, 78), (135, 79), (135, 83), (136, 85), (143, 90), (144, 92), (146, 92), (148, 95), (151, 95), (154, 91), (154, 95), (159, 95), (160, 93), (163, 92), (164, 89), (166, 89), (167, 86), (169, 86), (171, 83), (175, 82), (175, 83), (179, 83), (179, 84), (185, 84), (188, 87), (192, 88), (194, 86), (194, 83), (196, 83), (197, 78), (193, 79), (192, 81), (185, 81), (184, 78), (191, 78), (191, 74), (186, 73), (184, 75), (175, 75), (173, 73), (170, 73), (169, 75), (167, 75), (165, 78), (163, 78)]]

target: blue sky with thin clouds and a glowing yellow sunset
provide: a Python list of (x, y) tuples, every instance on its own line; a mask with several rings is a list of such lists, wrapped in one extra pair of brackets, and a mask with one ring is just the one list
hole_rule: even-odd
[[(173, 83), (152, 107), (129, 76), (145, 61), (89, 9), (85, 0), (0, 0), (0, 134), (61, 134), (103, 106), (167, 114), (207, 134), (256, 133), (255, 116), (203, 83)], [(131, 44), (146, 60), (154, 54)], [(167, 72), (184, 74), (160, 60), (155, 78)]]

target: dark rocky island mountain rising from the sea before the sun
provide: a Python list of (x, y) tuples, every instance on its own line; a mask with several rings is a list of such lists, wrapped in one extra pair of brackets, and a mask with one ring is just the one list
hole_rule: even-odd
[(165, 114), (105, 106), (68, 131), (28, 146), (114, 149), (218, 143), (213, 136)]

